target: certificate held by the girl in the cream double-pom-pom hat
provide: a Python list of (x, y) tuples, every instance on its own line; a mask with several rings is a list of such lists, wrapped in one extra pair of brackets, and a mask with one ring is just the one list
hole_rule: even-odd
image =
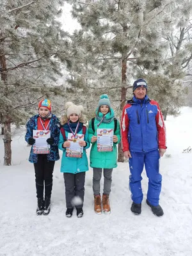
[(66, 148), (67, 157), (81, 158), (83, 154), (83, 147), (79, 145), (79, 141), (84, 140), (84, 134), (68, 133), (67, 141), (70, 141), (70, 147)]

